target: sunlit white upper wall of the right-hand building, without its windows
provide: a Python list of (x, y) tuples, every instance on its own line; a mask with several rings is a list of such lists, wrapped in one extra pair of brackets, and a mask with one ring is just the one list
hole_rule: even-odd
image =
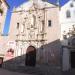
[[(73, 4), (73, 7), (70, 6), (71, 3)], [(70, 18), (66, 17), (67, 10), (70, 11)], [(75, 25), (75, 1), (72, 2), (72, 0), (70, 0), (68, 3), (61, 7), (59, 20), (61, 25), (61, 40), (63, 40), (64, 31), (68, 33), (69, 28), (72, 29), (73, 25)]]

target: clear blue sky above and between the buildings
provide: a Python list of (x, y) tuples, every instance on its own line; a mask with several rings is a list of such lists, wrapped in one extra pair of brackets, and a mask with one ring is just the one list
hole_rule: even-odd
[[(27, 2), (28, 0), (6, 0), (6, 1), (9, 4), (10, 9), (8, 9), (8, 11), (7, 11), (6, 21), (5, 21), (5, 25), (4, 25), (4, 29), (3, 29), (3, 35), (7, 35), (9, 33), (10, 20), (11, 20), (11, 15), (12, 15), (11, 11), (12, 11), (13, 7), (17, 7), (20, 4)], [(63, 6), (68, 1), (69, 0), (60, 0), (59, 4), (60, 4), (60, 6)], [(56, 3), (57, 0), (48, 0), (48, 2)]]

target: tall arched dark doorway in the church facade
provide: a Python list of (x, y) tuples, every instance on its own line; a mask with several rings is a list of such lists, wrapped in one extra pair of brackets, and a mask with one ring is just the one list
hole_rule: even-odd
[(29, 46), (27, 48), (25, 65), (26, 66), (36, 65), (36, 48), (34, 46)]

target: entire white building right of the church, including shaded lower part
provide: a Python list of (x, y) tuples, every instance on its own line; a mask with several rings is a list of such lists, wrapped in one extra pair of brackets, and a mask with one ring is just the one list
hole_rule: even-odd
[(60, 9), (61, 41), (62, 41), (62, 68), (75, 68), (75, 0), (70, 0)]

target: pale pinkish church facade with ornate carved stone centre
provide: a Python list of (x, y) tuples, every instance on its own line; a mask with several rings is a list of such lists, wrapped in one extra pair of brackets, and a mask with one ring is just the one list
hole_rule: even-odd
[(4, 48), (12, 48), (14, 58), (24, 55), (28, 61), (27, 53), (34, 51), (29, 58), (36, 60), (35, 64), (60, 65), (59, 34), (59, 6), (42, 0), (28, 1), (13, 9)]

